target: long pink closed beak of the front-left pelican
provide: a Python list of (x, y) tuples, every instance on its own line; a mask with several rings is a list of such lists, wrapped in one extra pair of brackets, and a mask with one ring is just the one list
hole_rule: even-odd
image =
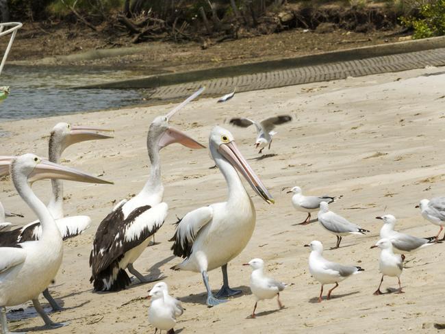
[(113, 182), (93, 177), (92, 175), (81, 172), (75, 168), (61, 166), (46, 160), (41, 160), (28, 175), (28, 181), (31, 183), (43, 179), (62, 179), (86, 183), (114, 184)]

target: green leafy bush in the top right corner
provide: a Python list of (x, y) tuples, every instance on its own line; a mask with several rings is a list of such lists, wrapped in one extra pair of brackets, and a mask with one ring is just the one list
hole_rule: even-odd
[(431, 1), (420, 5), (418, 17), (403, 16), (405, 27), (414, 29), (413, 38), (427, 38), (445, 35), (445, 0)]

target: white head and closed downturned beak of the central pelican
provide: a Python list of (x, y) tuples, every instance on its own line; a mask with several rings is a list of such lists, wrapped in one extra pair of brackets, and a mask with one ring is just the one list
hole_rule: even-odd
[(275, 203), (272, 195), (268, 192), (262, 181), (255, 174), (249, 163), (244, 159), (238, 147), (235, 144), (235, 138), (229, 130), (219, 127), (218, 125), (212, 129), (209, 136), (210, 153), (215, 162), (223, 159), (231, 166), (236, 168), (238, 172), (249, 182), (253, 190), (264, 199), (267, 203)]

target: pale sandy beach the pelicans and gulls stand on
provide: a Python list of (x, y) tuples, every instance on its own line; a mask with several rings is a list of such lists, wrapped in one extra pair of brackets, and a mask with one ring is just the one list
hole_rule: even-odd
[[(248, 246), (229, 264), (229, 282), (244, 294), (209, 309), (205, 306), (201, 275), (169, 269), (180, 259), (172, 255), (168, 239), (173, 235), (176, 216), (225, 200), (225, 180), (217, 169), (209, 169), (213, 162), (207, 150), (190, 151), (172, 145), (162, 151), (164, 201), (169, 205), (169, 214), (156, 234), (160, 244), (147, 248), (135, 268), (151, 277), (162, 275), (171, 293), (182, 300), (186, 311), (177, 329), (182, 329), (181, 333), (418, 333), (423, 326), (426, 329), (422, 333), (437, 331), (433, 324), (445, 322), (445, 246), (438, 244), (408, 255), (409, 262), (401, 276), (405, 294), (383, 296), (372, 295), (380, 274), (379, 251), (370, 246), (379, 239), (381, 221), (375, 217), (382, 214), (394, 214), (398, 218), (396, 228), (405, 233), (437, 233), (438, 228), (423, 220), (415, 205), (422, 198), (445, 194), (444, 82), (444, 68), (424, 68), (239, 93), (227, 103), (201, 99), (181, 110), (172, 125), (203, 144), (207, 144), (214, 125), (230, 129), (276, 203), (268, 205), (253, 196), (253, 190), (244, 183), (253, 196), (257, 224)], [(76, 144), (64, 153), (64, 163), (103, 175), (115, 185), (65, 183), (66, 214), (87, 214), (93, 224), (86, 233), (66, 242), (62, 268), (50, 288), (66, 310), (51, 314), (51, 318), (69, 325), (51, 333), (154, 331), (147, 320), (149, 301), (144, 299), (153, 283), (133, 285), (118, 293), (93, 293), (88, 281), (88, 257), (101, 220), (116, 201), (136, 194), (146, 181), (147, 129), (155, 116), (165, 114), (171, 107), (1, 123), (9, 136), (1, 139), (0, 152), (8, 155), (47, 155), (47, 136), (60, 121), (116, 130), (112, 140)], [(262, 119), (273, 114), (292, 114), (294, 120), (277, 129), (272, 149), (264, 151), (271, 156), (264, 158), (253, 147), (254, 129), (225, 124), (232, 116)], [(26, 222), (34, 220), (10, 181), (0, 183), (5, 207), (25, 214)], [(305, 214), (292, 207), (290, 194), (285, 193), (294, 185), (301, 186), (305, 194), (343, 195), (331, 209), (371, 231), (366, 236), (344, 237), (338, 250), (326, 249), (328, 259), (356, 264), (365, 271), (340, 283), (333, 298), (322, 303), (316, 303), (320, 285), (309, 274), (309, 251), (303, 245), (320, 240), (329, 248), (335, 245), (335, 236), (318, 222), (295, 225), (304, 220)], [(40, 181), (34, 190), (47, 201), (49, 182)], [(249, 291), (251, 270), (241, 266), (253, 257), (264, 259), (269, 274), (288, 283), (281, 294), (285, 309), (277, 311), (276, 300), (262, 301), (255, 320), (246, 319), (255, 303)], [(209, 281), (218, 290), (222, 283), (220, 270), (210, 272)], [(396, 288), (396, 279), (385, 279), (382, 288), (387, 287)], [(20, 317), (20, 313), (14, 314), (14, 319)], [(42, 320), (35, 313), (31, 318), (10, 322), (11, 330), (27, 331), (39, 326)]]

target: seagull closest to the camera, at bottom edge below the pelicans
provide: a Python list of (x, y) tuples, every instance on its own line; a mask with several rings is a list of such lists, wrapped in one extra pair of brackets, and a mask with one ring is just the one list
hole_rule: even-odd
[(149, 307), (149, 322), (155, 326), (155, 334), (157, 329), (160, 329), (160, 333), (164, 330), (167, 334), (174, 334), (177, 307), (166, 301), (165, 290), (162, 287), (153, 287), (149, 298), (152, 300)]

